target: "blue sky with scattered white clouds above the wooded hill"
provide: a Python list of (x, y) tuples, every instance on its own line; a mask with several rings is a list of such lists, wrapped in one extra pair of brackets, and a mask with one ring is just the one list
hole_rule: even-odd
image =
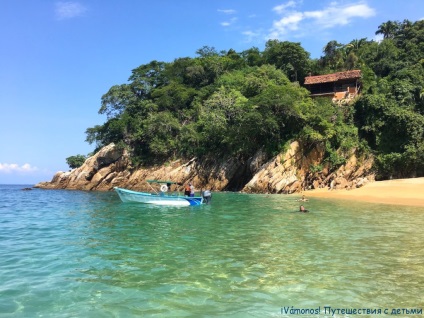
[(312, 58), (331, 40), (375, 39), (388, 20), (424, 18), (422, 0), (0, 0), (0, 184), (35, 184), (88, 154), (100, 99), (152, 60), (263, 51), (300, 42)]

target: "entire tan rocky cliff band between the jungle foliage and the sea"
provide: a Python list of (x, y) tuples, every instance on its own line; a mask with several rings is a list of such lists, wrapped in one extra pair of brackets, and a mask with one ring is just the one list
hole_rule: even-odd
[(135, 169), (125, 150), (114, 144), (72, 171), (57, 172), (50, 182), (36, 185), (45, 189), (111, 190), (124, 187), (149, 190), (148, 179), (192, 182), (197, 189), (244, 191), (248, 193), (293, 193), (307, 189), (331, 187), (350, 189), (373, 180), (372, 159), (358, 158), (354, 151), (347, 163), (331, 170), (323, 162), (320, 147), (304, 149), (293, 142), (284, 154), (267, 160), (258, 152), (247, 161), (193, 158), (161, 166)]

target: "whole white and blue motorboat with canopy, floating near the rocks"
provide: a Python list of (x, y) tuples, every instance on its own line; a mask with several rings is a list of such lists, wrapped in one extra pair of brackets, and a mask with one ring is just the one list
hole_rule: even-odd
[(190, 206), (190, 205), (201, 205), (203, 203), (203, 197), (190, 197), (180, 195), (178, 193), (168, 192), (172, 184), (177, 184), (171, 181), (160, 181), (160, 180), (147, 180), (150, 183), (162, 184), (160, 191), (154, 192), (139, 192), (133, 190), (127, 190), (123, 188), (114, 187), (114, 190), (118, 193), (119, 197), (123, 202), (139, 202), (148, 203), (155, 205), (167, 205), (167, 206)]

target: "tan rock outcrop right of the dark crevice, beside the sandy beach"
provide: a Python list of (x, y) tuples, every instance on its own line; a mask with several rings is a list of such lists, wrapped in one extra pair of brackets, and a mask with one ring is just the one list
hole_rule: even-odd
[(317, 188), (353, 189), (374, 181), (372, 158), (360, 158), (352, 150), (336, 170), (324, 162), (324, 148), (304, 149), (293, 142), (284, 154), (267, 162), (243, 188), (252, 193), (294, 193)]

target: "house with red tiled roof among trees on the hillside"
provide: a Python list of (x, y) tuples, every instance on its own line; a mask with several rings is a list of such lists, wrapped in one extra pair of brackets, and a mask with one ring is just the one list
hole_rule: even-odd
[(361, 70), (307, 76), (305, 87), (311, 92), (311, 97), (329, 97), (334, 103), (345, 105), (359, 94), (361, 76)]

